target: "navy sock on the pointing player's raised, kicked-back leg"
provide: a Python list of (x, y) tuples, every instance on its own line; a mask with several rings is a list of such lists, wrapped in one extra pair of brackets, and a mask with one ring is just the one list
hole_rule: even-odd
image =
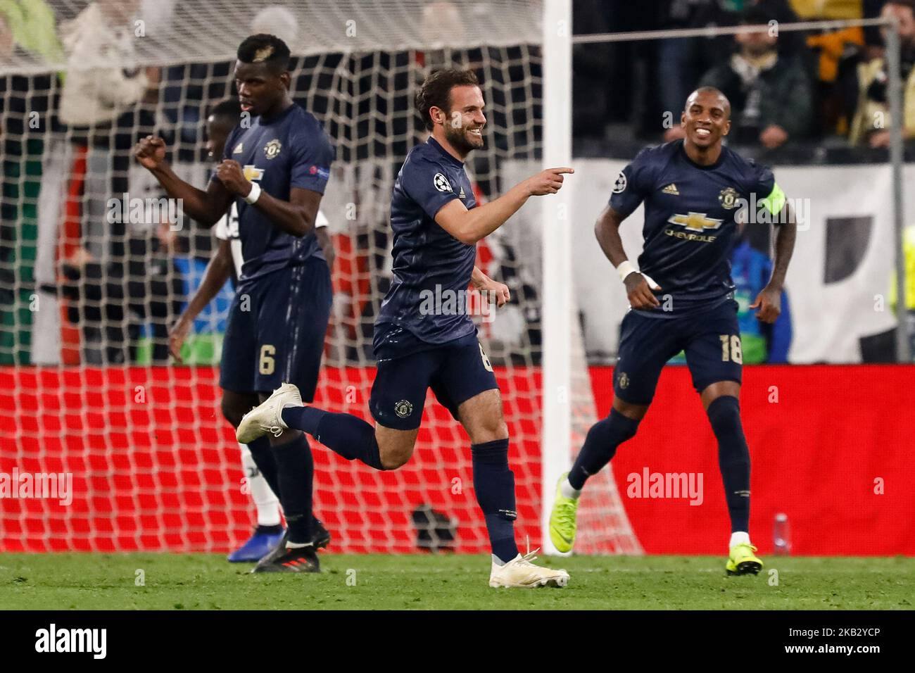
[(285, 407), (281, 414), (288, 427), (307, 432), (346, 460), (358, 459), (376, 470), (384, 469), (375, 429), (361, 418), (315, 407)]

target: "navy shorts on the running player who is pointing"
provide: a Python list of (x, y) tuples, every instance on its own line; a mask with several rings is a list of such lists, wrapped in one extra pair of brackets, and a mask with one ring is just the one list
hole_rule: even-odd
[[(396, 329), (396, 328), (394, 328)], [(385, 428), (414, 430), (423, 420), (425, 391), (432, 388), (439, 404), (458, 418), (458, 407), (483, 391), (498, 388), (490, 359), (477, 341), (476, 333), (452, 342), (432, 346), (405, 332), (398, 344), (416, 342), (423, 350), (386, 357), (385, 349), (375, 352), (378, 374), (371, 385), (369, 410)], [(431, 346), (431, 347), (430, 347)]]

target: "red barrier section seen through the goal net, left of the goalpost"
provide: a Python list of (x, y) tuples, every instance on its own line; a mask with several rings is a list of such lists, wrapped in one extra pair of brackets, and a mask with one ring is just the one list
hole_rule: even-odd
[[(497, 371), (513, 439), (519, 539), (539, 539), (539, 373)], [(368, 418), (374, 370), (322, 372), (315, 404)], [(0, 473), (70, 472), (69, 505), (0, 499), (0, 550), (217, 551), (253, 526), (240, 452), (209, 367), (0, 369)], [(316, 513), (339, 552), (416, 551), (412, 512), (457, 517), (462, 552), (489, 550), (473, 492), (469, 440), (427, 398), (404, 468), (377, 472), (312, 440)], [(13, 440), (13, 441), (10, 441)]]

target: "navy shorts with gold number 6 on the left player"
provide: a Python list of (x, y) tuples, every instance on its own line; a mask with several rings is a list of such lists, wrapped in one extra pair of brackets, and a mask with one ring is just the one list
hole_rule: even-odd
[(292, 383), (311, 402), (332, 299), (328, 263), (318, 258), (242, 282), (222, 342), (221, 387), (269, 393)]

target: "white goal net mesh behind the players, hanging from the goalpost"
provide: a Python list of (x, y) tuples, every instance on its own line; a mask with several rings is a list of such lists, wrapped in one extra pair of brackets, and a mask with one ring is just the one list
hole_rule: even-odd
[[(285, 39), (293, 97), (337, 151), (321, 205), (337, 260), (315, 404), (371, 420), (372, 324), (391, 281), (390, 194), (425, 137), (414, 92), (438, 67), (477, 72), (487, 142), (468, 172), (479, 202), (498, 197), (511, 187), (501, 175), (507, 162), (535, 166), (540, 156), (542, 8), (517, 0), (45, 5), (47, 16), (0, 7), (0, 550), (223, 552), (253, 526), (240, 450), (220, 410), (232, 289), (200, 314), (185, 364), (176, 364), (168, 328), (215, 244), (198, 223), (178, 227), (147, 206), (129, 223), (111, 222), (112, 199), (165, 196), (131, 147), (141, 135), (163, 136), (178, 175), (205, 186), (206, 117), (235, 97), (235, 48), (254, 32)], [(511, 433), (519, 540), (533, 548), (544, 506), (540, 255), (516, 244), (525, 233), (511, 226), (478, 253), (478, 265), (510, 286), (511, 305), (480, 309), (476, 320)], [(577, 450), (595, 409), (572, 329)], [(374, 472), (312, 448), (315, 510), (332, 550), (409, 552), (422, 540), (488, 549), (468, 439), (434, 396), (400, 470)], [(592, 482), (578, 549), (639, 553), (609, 469)], [(442, 516), (427, 525), (430, 508)]]

